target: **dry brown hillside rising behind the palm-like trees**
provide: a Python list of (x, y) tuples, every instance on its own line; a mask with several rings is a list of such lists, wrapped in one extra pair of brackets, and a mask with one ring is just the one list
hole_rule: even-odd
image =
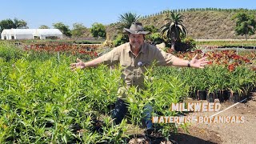
[[(243, 10), (246, 13), (254, 14), (256, 10)], [(238, 36), (235, 34), (235, 20), (231, 20), (234, 14), (241, 12), (240, 10), (184, 10), (181, 13), (185, 16), (183, 24), (188, 31), (187, 36), (194, 39), (240, 39), (245, 36)], [(144, 16), (139, 21), (143, 26), (153, 25), (160, 28), (166, 14), (159, 12), (159, 14), (151, 14), (151, 16)], [(106, 26), (106, 32), (110, 39), (118, 33), (118, 22)], [(256, 38), (256, 34), (248, 38)]]

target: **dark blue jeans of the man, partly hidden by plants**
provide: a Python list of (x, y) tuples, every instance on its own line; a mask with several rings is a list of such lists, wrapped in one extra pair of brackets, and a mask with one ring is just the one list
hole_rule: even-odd
[[(122, 119), (125, 117), (128, 111), (127, 107), (128, 107), (127, 103), (124, 102), (122, 99), (118, 98), (118, 101), (115, 102), (115, 107), (111, 115), (112, 115), (112, 118), (114, 118), (114, 122), (116, 125), (122, 122)], [(147, 129), (152, 128), (151, 113), (152, 113), (152, 106), (150, 105), (144, 106), (143, 115), (145, 115), (145, 122), (146, 122)]]

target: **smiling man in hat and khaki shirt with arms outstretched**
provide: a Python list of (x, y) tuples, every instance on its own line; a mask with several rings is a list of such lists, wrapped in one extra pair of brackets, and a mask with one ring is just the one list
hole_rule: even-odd
[[(156, 62), (156, 66), (188, 66), (195, 68), (203, 68), (208, 62), (205, 60), (206, 58), (197, 59), (197, 55), (191, 61), (183, 60), (144, 42), (145, 35), (149, 32), (144, 31), (142, 24), (139, 22), (133, 22), (130, 29), (125, 28), (124, 30), (129, 36), (129, 42), (90, 62), (82, 62), (77, 59), (77, 63), (70, 64), (71, 70), (98, 66), (101, 63), (106, 65), (119, 63), (123, 68), (121, 77), (126, 83), (126, 87), (137, 86), (139, 89), (143, 89), (143, 74), (146, 72), (146, 66), (152, 65), (153, 62)], [(118, 90), (118, 101), (112, 112), (112, 118), (114, 118), (116, 124), (122, 121), (127, 112), (126, 94), (123, 92), (125, 89), (121, 87)], [(145, 111), (147, 130), (150, 130), (152, 128), (152, 107), (146, 106)]]

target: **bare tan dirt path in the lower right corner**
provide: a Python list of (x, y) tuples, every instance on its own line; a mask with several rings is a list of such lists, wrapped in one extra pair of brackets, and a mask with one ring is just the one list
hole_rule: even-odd
[[(196, 102), (196, 101), (195, 101)], [(234, 103), (221, 103), (225, 110)], [(220, 111), (221, 111), (220, 110)], [(211, 116), (217, 112), (190, 113), (196, 116)], [(216, 116), (243, 116), (243, 123), (192, 123), (188, 127), (190, 134), (180, 130), (173, 139), (182, 143), (256, 143), (256, 93), (251, 93), (247, 102), (238, 103)]]

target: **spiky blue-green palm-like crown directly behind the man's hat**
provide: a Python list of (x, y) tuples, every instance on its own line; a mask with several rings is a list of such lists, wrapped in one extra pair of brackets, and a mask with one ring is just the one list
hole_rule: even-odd
[(133, 22), (138, 21), (138, 18), (140, 18), (140, 15), (130, 12), (121, 14), (119, 17), (119, 21), (122, 23), (120, 30), (123, 30), (123, 28), (129, 29)]

